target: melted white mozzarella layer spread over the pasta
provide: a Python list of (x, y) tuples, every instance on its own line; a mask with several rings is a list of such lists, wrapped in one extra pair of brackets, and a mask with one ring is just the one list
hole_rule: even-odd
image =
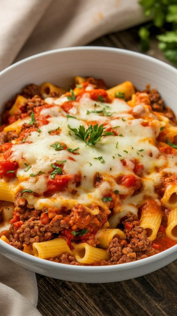
[[(58, 191), (50, 198), (26, 197), (28, 204), (34, 205), (36, 209), (44, 206), (64, 206), (71, 209), (78, 203), (88, 207), (92, 203), (97, 203), (108, 209), (109, 205), (103, 202), (103, 197), (118, 190), (120, 195), (125, 196), (120, 199), (117, 208), (114, 208), (119, 220), (128, 210), (137, 213), (138, 207), (148, 196), (157, 200), (154, 188), (158, 185), (160, 176), (157, 177), (156, 168), (165, 167), (166, 172), (172, 173), (173, 168), (177, 169), (177, 157), (168, 155), (168, 160), (167, 157), (160, 155), (156, 147), (156, 137), (161, 125), (148, 107), (138, 105), (132, 109), (124, 100), (117, 98), (111, 104), (96, 102), (91, 100), (89, 93), (86, 92), (78, 102), (73, 102), (70, 109), (69, 114), (72, 113), (75, 118), (67, 118), (67, 113), (60, 107), (66, 101), (65, 96), (45, 99), (46, 103), (54, 105), (41, 111), (44, 117), (50, 115), (49, 124), (41, 126), (40, 133), (32, 131), (25, 143), (13, 145), (11, 161), (17, 161), (20, 167), (17, 172), (17, 191), (31, 189), (42, 195), (47, 190), (47, 177), (54, 170), (51, 164), (58, 160), (66, 160), (62, 164), (63, 174), (81, 175), (80, 186), (76, 187), (76, 183), (70, 181), (66, 190)], [(152, 124), (143, 126), (144, 119), (135, 119), (133, 113), (143, 113), (150, 117)], [(78, 129), (83, 125), (87, 129), (91, 121), (98, 122), (98, 125), (104, 124), (104, 127), (114, 130), (116, 135), (102, 137), (95, 146), (86, 145), (70, 128)], [(49, 133), (58, 128), (58, 135)], [(79, 148), (74, 152), (79, 154), (64, 149), (55, 150), (51, 145), (56, 142), (65, 144), (70, 149)], [(103, 160), (98, 159), (99, 157)], [(127, 162), (126, 166), (123, 164), (124, 160)], [(143, 189), (139, 194), (131, 195), (131, 188), (118, 184), (116, 179), (122, 175), (134, 175), (135, 161), (144, 166), (141, 179)], [(25, 163), (30, 166), (28, 171)], [(30, 176), (39, 171), (43, 174), (37, 177)], [(162, 174), (163, 170), (159, 173)], [(103, 182), (94, 187), (93, 179), (97, 175), (103, 178)], [(75, 194), (72, 193), (73, 190)], [(91, 210), (91, 213), (94, 213), (94, 210)]]

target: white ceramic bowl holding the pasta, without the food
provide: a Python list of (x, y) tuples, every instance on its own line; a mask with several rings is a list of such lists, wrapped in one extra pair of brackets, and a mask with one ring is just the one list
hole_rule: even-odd
[[(72, 47), (26, 58), (0, 73), (1, 103), (29, 83), (50, 81), (69, 88), (74, 76), (93, 76), (112, 87), (130, 80), (138, 89), (150, 83), (177, 113), (177, 69), (136, 52), (106, 47)], [(33, 257), (0, 240), (0, 252), (21, 266), (60, 280), (86, 283), (122, 281), (145, 275), (177, 258), (177, 245), (152, 257), (113, 266), (74, 266)]]

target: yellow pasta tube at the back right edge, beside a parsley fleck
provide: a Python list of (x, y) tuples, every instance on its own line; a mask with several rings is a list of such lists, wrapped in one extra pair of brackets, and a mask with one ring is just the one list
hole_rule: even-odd
[(118, 86), (115, 86), (113, 88), (110, 88), (107, 90), (107, 93), (110, 98), (115, 98), (115, 94), (117, 92), (122, 92), (124, 93), (124, 97), (126, 100), (130, 99), (132, 94), (135, 93), (135, 89), (133, 87), (132, 82), (130, 81), (125, 81)]

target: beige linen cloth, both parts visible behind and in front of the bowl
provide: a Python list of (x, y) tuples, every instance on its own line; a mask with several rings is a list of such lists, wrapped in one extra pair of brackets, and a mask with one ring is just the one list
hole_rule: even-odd
[[(145, 21), (138, 0), (1, 0), (0, 70)], [(35, 274), (0, 255), (0, 315), (38, 316)]]

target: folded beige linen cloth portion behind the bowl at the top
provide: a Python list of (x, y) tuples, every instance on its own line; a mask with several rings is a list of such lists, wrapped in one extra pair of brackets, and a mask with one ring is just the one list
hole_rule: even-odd
[(1, 0), (0, 70), (16, 57), (85, 45), (143, 21), (138, 0)]

